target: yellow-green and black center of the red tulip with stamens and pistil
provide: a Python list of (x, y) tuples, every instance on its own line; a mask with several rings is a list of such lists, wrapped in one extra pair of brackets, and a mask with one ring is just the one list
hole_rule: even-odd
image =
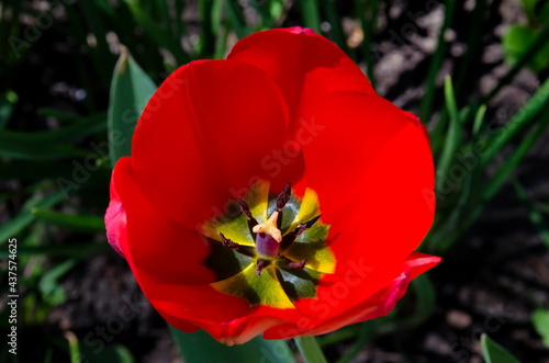
[(212, 287), (250, 306), (289, 309), (300, 298), (315, 298), (322, 275), (336, 266), (326, 245), (329, 226), (320, 218), (313, 190), (300, 198), (288, 184), (277, 196), (268, 182), (257, 183), (202, 227), (212, 246), (204, 263), (217, 277)]

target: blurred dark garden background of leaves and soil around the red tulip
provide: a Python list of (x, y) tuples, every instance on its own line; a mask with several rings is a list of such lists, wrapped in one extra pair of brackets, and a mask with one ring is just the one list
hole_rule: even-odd
[(1, 0), (1, 362), (193, 361), (104, 236), (115, 64), (125, 47), (141, 81), (159, 84), (253, 32), (294, 25), (419, 115), (437, 165), (421, 250), (444, 262), (390, 316), (320, 337), (328, 361), (549, 362), (545, 0)]

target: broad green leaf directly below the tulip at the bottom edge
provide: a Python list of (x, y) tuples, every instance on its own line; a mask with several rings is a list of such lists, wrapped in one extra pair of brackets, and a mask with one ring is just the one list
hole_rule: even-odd
[(203, 330), (189, 333), (173, 327), (169, 329), (186, 362), (295, 363), (292, 352), (281, 340), (264, 340), (258, 337), (245, 344), (227, 347)]

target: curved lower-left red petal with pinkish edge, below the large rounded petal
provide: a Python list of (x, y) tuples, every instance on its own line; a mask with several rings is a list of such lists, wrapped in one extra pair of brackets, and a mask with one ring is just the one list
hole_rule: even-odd
[(145, 296), (172, 326), (183, 331), (202, 328), (232, 344), (301, 317), (292, 309), (250, 308), (245, 299), (203, 284), (214, 281), (200, 264), (209, 249), (192, 231), (153, 209), (133, 180), (131, 158), (116, 163), (113, 185), (127, 213), (120, 247)]

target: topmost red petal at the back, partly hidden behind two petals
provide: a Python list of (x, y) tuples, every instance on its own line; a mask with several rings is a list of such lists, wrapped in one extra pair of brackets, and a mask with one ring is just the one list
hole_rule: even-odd
[(239, 41), (227, 59), (265, 70), (282, 91), (293, 121), (312, 99), (336, 91), (374, 93), (368, 78), (341, 49), (309, 29), (255, 33)]

